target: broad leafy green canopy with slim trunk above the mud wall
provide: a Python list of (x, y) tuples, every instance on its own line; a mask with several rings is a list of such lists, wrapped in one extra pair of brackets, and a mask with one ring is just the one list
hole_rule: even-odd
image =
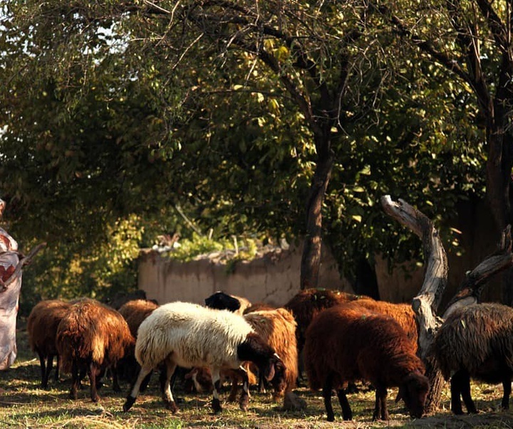
[[(486, 127), (474, 88), (419, 54), (415, 6), (397, 6), (401, 16), (358, 1), (7, 1), (11, 233), (48, 241), (52, 285), (77, 258), (73, 282), (113, 248), (192, 234), (180, 212), (219, 237), (306, 237), (304, 285), (322, 239), (349, 275), (376, 252), (415, 255), (380, 196), (408, 196), (438, 221), (482, 197)], [(435, 37), (426, 8), (416, 29)], [(102, 283), (94, 271), (86, 291)]]

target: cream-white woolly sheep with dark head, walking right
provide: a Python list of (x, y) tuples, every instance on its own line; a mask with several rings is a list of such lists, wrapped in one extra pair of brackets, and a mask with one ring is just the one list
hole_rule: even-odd
[[(164, 401), (175, 413), (170, 378), (176, 367), (209, 367), (214, 385), (212, 409), (219, 413), (219, 371), (238, 369), (243, 361), (252, 361), (268, 380), (279, 377), (284, 382), (284, 364), (274, 349), (254, 332), (239, 314), (209, 309), (190, 302), (170, 302), (155, 309), (141, 324), (135, 343), (135, 359), (141, 366), (139, 376), (123, 405), (128, 411), (135, 403), (140, 384), (160, 362), (167, 367)], [(247, 373), (244, 379), (240, 408), (247, 410), (249, 401)]]

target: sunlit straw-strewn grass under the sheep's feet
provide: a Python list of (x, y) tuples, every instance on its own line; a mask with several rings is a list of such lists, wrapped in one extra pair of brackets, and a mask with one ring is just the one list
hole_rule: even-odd
[[(209, 394), (189, 395), (177, 388), (180, 411), (172, 415), (162, 406), (157, 388), (157, 377), (152, 378), (148, 391), (141, 394), (133, 408), (123, 413), (122, 407), (128, 386), (122, 393), (114, 393), (110, 380), (100, 389), (101, 400), (93, 403), (89, 398), (88, 384), (78, 393), (78, 399), (69, 398), (70, 377), (62, 374), (60, 381), (51, 380), (50, 388), (39, 388), (40, 368), (26, 343), (26, 332), (18, 332), (19, 355), (11, 369), (1, 373), (0, 428), (86, 428), (86, 429), (181, 429), (181, 428), (261, 428), (261, 429), (367, 429), (367, 428), (513, 428), (513, 413), (498, 411), (501, 386), (472, 384), (472, 396), (481, 413), (454, 416), (448, 411), (450, 397), (442, 396), (442, 409), (434, 415), (411, 420), (403, 403), (395, 404), (396, 390), (390, 389), (388, 422), (373, 422), (374, 394), (362, 389), (349, 398), (354, 420), (343, 422), (338, 401), (333, 398), (336, 421), (328, 423), (320, 392), (308, 388), (296, 389), (296, 394), (307, 403), (305, 411), (282, 411), (281, 404), (273, 403), (270, 394), (252, 393), (249, 411), (244, 413), (237, 404), (224, 403), (223, 411), (213, 415)], [(227, 392), (222, 393), (222, 398)]]

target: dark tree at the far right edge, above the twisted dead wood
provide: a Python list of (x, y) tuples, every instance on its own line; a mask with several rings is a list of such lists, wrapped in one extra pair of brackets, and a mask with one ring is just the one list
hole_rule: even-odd
[[(487, 142), (487, 200), (497, 231), (512, 223), (513, 46), (507, 1), (451, 0), (427, 5), (413, 22), (393, 6), (375, 4), (393, 31), (418, 48), (423, 59), (450, 72), (450, 79), (474, 95)], [(510, 274), (511, 277), (511, 274)], [(507, 282), (509, 284), (509, 282)], [(504, 302), (513, 291), (504, 285)]]

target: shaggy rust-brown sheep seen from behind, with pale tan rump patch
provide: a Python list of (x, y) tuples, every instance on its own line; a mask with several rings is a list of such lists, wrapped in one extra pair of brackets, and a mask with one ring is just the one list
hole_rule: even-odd
[(107, 368), (113, 369), (114, 391), (120, 391), (115, 367), (133, 353), (134, 344), (127, 322), (115, 309), (89, 298), (71, 305), (58, 324), (56, 337), (61, 369), (71, 372), (71, 398), (77, 398), (78, 371), (87, 371), (93, 402), (100, 399), (97, 376)]

